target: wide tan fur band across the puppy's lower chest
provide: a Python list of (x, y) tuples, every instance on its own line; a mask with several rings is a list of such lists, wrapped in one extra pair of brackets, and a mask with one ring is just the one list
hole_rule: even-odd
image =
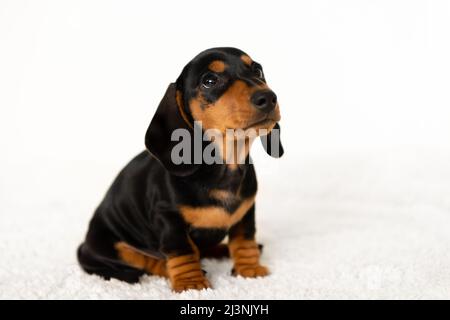
[(227, 212), (220, 206), (191, 207), (180, 206), (184, 220), (197, 228), (230, 228), (238, 223), (255, 202), (255, 197), (242, 200), (233, 212)]

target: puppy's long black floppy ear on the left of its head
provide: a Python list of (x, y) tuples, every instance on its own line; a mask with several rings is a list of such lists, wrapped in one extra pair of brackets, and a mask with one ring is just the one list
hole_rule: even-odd
[(177, 176), (187, 176), (192, 174), (197, 166), (193, 162), (175, 164), (171, 158), (173, 147), (180, 143), (171, 139), (174, 130), (187, 130), (191, 140), (193, 140), (193, 130), (181, 104), (181, 92), (177, 91), (175, 83), (171, 83), (147, 129), (145, 146), (170, 173)]

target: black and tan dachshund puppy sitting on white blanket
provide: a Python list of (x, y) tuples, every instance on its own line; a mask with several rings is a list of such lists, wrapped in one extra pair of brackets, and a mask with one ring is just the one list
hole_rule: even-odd
[[(78, 249), (83, 269), (131, 283), (144, 273), (154, 274), (168, 277), (175, 291), (203, 289), (210, 284), (200, 258), (227, 253), (234, 275), (267, 275), (255, 242), (257, 185), (248, 155), (253, 139), (245, 138), (244, 151), (233, 151), (231, 158), (243, 163), (176, 164), (172, 133), (193, 132), (201, 121), (203, 131), (225, 135), (227, 129), (267, 129), (267, 136), (275, 136), (279, 120), (276, 95), (260, 64), (234, 48), (196, 56), (169, 85), (147, 130), (147, 150), (122, 170), (97, 208)], [(203, 141), (199, 149), (193, 147), (192, 158), (211, 143), (225, 157), (233, 139), (240, 138)], [(268, 141), (263, 143), (266, 151), (280, 156), (279, 140)], [(279, 150), (275, 155), (274, 149)], [(227, 235), (226, 247), (220, 243)]]

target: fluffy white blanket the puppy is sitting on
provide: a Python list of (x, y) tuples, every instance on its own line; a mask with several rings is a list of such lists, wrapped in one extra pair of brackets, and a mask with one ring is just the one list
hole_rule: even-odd
[(234, 278), (229, 261), (207, 260), (214, 289), (182, 294), (157, 277), (129, 285), (79, 269), (76, 247), (117, 168), (11, 166), (4, 177), (15, 192), (0, 203), (0, 298), (450, 298), (448, 153), (298, 159), (287, 151), (256, 164), (258, 240), (272, 275)]

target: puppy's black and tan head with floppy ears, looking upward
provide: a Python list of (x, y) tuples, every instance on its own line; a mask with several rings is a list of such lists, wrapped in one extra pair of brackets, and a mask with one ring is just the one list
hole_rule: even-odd
[(190, 61), (169, 86), (147, 130), (146, 146), (169, 171), (189, 174), (192, 166), (167, 163), (173, 147), (170, 137), (173, 130), (193, 130), (194, 123), (201, 121), (204, 130), (215, 129), (223, 135), (227, 129), (269, 132), (261, 137), (263, 146), (279, 157), (283, 154), (279, 120), (277, 96), (268, 87), (262, 66), (239, 49), (213, 48)]

